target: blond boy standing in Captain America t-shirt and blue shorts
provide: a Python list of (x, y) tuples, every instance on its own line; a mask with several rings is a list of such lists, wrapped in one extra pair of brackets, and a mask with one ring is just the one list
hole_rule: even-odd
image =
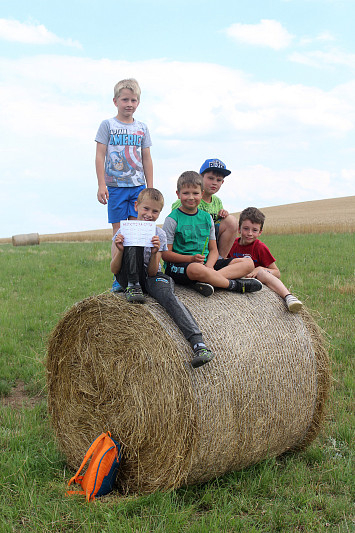
[[(113, 235), (121, 220), (134, 219), (135, 201), (142, 189), (153, 187), (153, 163), (148, 127), (135, 120), (141, 90), (133, 79), (121, 80), (114, 88), (117, 115), (104, 120), (96, 134), (97, 199), (108, 204)], [(112, 290), (120, 290), (114, 282)]]

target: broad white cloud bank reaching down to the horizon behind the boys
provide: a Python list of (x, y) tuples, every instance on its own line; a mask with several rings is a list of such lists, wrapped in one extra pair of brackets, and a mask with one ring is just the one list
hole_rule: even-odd
[[(176, 197), (179, 174), (207, 157), (221, 158), (233, 172), (221, 190), (229, 211), (353, 190), (355, 82), (323, 91), (256, 83), (212, 63), (66, 56), (0, 58), (0, 76), (2, 198), (16, 198), (16, 206), (0, 209), (0, 236), (29, 227), (39, 233), (104, 227), (94, 137), (101, 120), (115, 113), (114, 84), (131, 76), (143, 90), (136, 116), (152, 134), (155, 185), (166, 199), (161, 218)], [(321, 168), (325, 157), (325, 168), (332, 160), (333, 141), (343, 150), (343, 173)]]

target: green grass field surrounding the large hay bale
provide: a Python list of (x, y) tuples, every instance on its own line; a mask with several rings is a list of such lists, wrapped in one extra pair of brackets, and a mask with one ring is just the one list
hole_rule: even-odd
[(46, 410), (46, 342), (75, 302), (109, 290), (109, 243), (0, 246), (0, 395), (24, 382), (35, 407), (0, 404), (2, 532), (346, 532), (354, 529), (354, 237), (275, 235), (282, 279), (329, 342), (326, 425), (304, 452), (150, 496), (65, 498), (71, 476)]

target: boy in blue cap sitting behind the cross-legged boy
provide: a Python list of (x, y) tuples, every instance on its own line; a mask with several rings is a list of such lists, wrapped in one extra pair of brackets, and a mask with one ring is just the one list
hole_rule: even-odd
[[(230, 173), (231, 171), (220, 159), (206, 159), (200, 168), (203, 193), (198, 208), (209, 213), (213, 219), (218, 252), (221, 257), (227, 257), (238, 232), (237, 219), (223, 209), (221, 199), (215, 195), (221, 188), (224, 178)], [(171, 208), (176, 209), (180, 205), (180, 200), (176, 200)]]

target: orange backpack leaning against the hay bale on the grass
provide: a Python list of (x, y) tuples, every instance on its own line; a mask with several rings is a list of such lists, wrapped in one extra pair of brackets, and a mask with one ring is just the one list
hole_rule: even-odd
[[(92, 459), (83, 476), (80, 472), (92, 455)], [(101, 433), (91, 444), (84, 460), (75, 476), (71, 478), (68, 487), (78, 483), (83, 490), (68, 490), (67, 495), (85, 494), (88, 501), (103, 496), (113, 490), (118, 466), (121, 460), (121, 447), (111, 438), (111, 433)]]

